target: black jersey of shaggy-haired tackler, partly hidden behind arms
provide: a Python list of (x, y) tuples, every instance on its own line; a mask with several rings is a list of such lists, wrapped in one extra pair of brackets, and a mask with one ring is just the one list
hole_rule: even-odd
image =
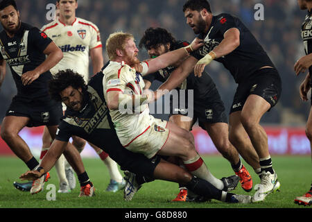
[[(184, 46), (188, 46), (189, 42), (185, 41), (177, 41), (173, 46), (171, 46), (171, 50), (180, 49)], [(153, 83), (154, 80), (159, 80), (164, 83), (171, 75), (171, 73), (175, 70), (175, 67), (166, 67), (164, 69), (160, 69), (153, 74), (148, 74), (143, 78), (145, 80)], [(189, 76), (187, 76), (186, 81), (177, 89), (193, 89), (194, 90), (194, 99), (207, 99), (207, 97), (212, 96), (210, 93), (212, 90), (216, 89), (216, 85), (211, 77), (204, 71), (200, 78), (194, 75), (194, 72), (191, 72)]]

